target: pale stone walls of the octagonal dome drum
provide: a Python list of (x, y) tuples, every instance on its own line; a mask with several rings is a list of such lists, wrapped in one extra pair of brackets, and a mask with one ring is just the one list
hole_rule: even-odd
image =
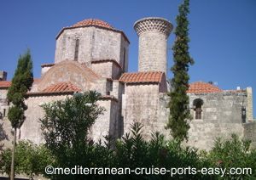
[[(125, 70), (128, 68), (129, 42), (119, 31), (94, 26), (65, 29), (56, 39), (55, 63), (75, 60), (76, 41), (79, 39), (78, 61), (90, 67), (91, 60), (114, 59)], [(124, 53), (125, 50), (125, 53)]]

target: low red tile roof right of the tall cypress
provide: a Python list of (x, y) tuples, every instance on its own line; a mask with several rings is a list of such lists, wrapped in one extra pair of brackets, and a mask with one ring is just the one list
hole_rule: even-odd
[(193, 82), (189, 84), (187, 93), (220, 93), (223, 90), (207, 82)]

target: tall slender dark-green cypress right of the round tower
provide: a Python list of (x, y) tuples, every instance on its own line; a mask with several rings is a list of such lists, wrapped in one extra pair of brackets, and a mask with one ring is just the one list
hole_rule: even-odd
[(178, 8), (177, 27), (175, 30), (176, 40), (174, 42), (172, 66), (173, 78), (171, 82), (171, 97), (169, 103), (170, 116), (167, 128), (171, 128), (173, 138), (180, 140), (188, 139), (189, 123), (191, 119), (189, 113), (189, 96), (186, 91), (189, 87), (189, 65), (193, 65), (194, 61), (189, 56), (189, 0), (184, 2)]

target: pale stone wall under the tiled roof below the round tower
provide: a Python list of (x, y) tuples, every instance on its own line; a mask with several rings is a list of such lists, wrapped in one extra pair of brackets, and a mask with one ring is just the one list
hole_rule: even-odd
[(144, 138), (149, 139), (151, 133), (160, 131), (168, 136), (165, 130), (168, 118), (166, 97), (159, 93), (158, 84), (126, 85), (123, 95), (124, 132), (129, 132), (131, 124), (143, 124)]

